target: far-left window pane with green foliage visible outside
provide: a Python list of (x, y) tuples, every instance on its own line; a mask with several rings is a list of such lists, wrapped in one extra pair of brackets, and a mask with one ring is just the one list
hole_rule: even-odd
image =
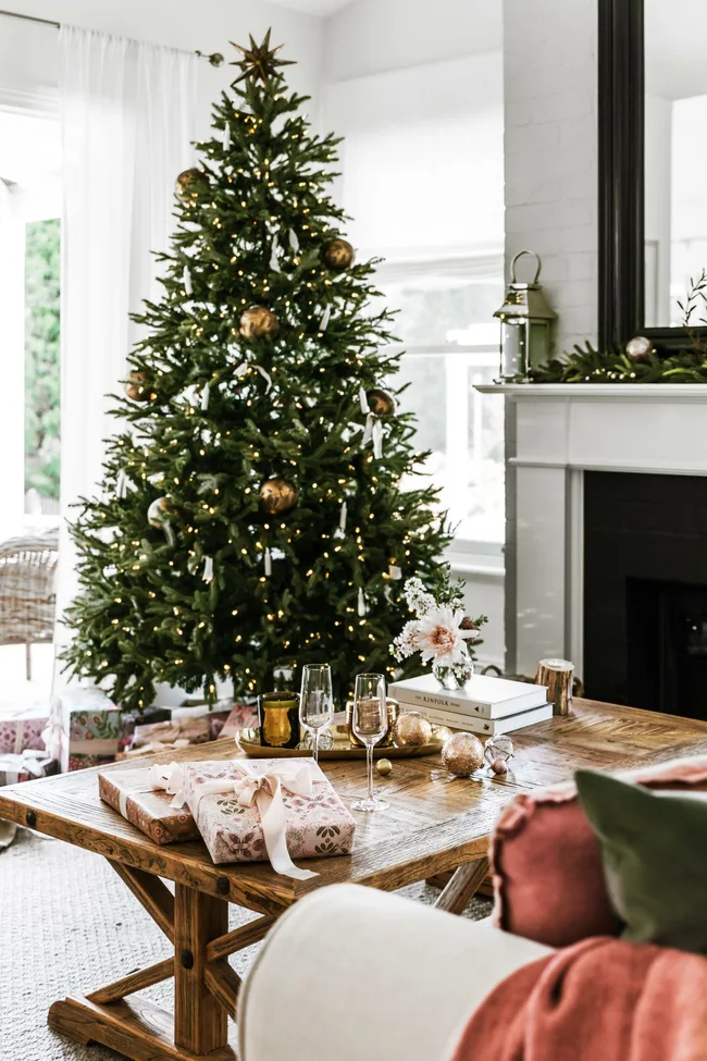
[(55, 523), (60, 471), (59, 123), (0, 109), (0, 533)]

